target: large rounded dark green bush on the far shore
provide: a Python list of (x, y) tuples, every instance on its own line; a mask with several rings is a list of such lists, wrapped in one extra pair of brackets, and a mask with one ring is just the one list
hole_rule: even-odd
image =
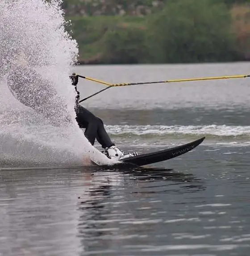
[(225, 4), (211, 0), (168, 1), (148, 18), (150, 58), (155, 63), (237, 59), (235, 35)]

